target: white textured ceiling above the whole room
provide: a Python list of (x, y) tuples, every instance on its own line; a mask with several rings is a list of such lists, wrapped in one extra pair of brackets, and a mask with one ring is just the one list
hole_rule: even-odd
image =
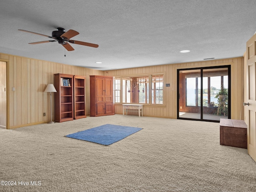
[[(99, 70), (240, 57), (255, 10), (255, 0), (0, 0), (0, 52)], [(18, 31), (57, 27), (99, 47), (72, 44), (64, 57), (57, 42), (31, 45), (49, 38)]]

